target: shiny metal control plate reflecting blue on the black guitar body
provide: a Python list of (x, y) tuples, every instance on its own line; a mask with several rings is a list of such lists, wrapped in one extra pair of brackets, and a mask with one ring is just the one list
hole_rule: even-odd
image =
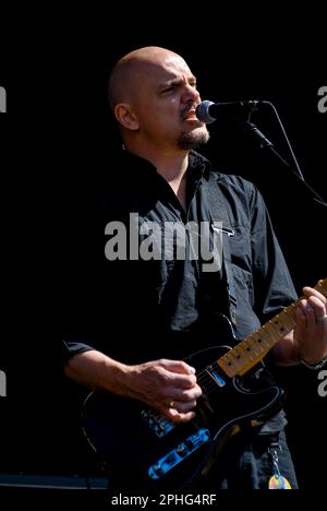
[(196, 433), (191, 435), (184, 442), (179, 443), (175, 449), (168, 452), (168, 454), (160, 457), (157, 463), (152, 465), (148, 470), (148, 475), (152, 479), (159, 479), (175, 465), (185, 460), (185, 457), (190, 456), (192, 452), (206, 443), (209, 438), (210, 432), (208, 429), (199, 429)]

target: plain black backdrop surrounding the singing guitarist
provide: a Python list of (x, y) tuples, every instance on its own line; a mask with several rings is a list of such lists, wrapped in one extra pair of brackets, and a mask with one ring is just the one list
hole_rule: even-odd
[[(74, 391), (52, 356), (56, 310), (64, 293), (56, 285), (57, 221), (63, 190), (106, 165), (118, 144), (106, 97), (117, 58), (140, 46), (164, 46), (184, 57), (203, 98), (272, 102), (306, 180), (327, 199), (327, 114), (317, 109), (317, 91), (327, 85), (323, 15), (300, 22), (283, 13), (261, 20), (240, 13), (235, 22), (234, 13), (185, 11), (171, 13), (164, 28), (158, 15), (141, 25), (132, 12), (128, 23), (123, 12), (58, 10), (38, 12), (37, 22), (28, 11), (26, 17), (23, 12), (11, 16), (10, 29), (1, 33), (0, 85), (8, 92), (8, 114), (0, 115), (0, 369), (7, 372), (8, 396), (0, 399), (0, 472), (83, 473), (89, 461), (76, 435)], [(289, 156), (269, 109), (252, 120)], [(327, 210), (233, 123), (217, 121), (210, 132), (205, 154), (263, 192), (298, 292), (326, 277)], [(317, 394), (317, 375), (292, 368), (280, 377), (300, 484), (323, 486), (326, 397)]]

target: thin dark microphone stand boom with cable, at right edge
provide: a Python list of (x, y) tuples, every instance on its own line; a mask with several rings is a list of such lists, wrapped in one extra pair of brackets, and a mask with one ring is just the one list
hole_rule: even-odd
[(268, 148), (275, 156), (277, 156), (277, 158), (288, 168), (290, 168), (292, 170), (292, 173), (294, 174), (294, 176), (302, 182), (302, 185), (307, 189), (310, 190), (310, 192), (312, 193), (313, 195), (313, 200), (315, 202), (317, 202), (318, 204), (327, 207), (327, 203), (326, 201), (313, 189), (313, 187), (311, 185), (308, 185), (305, 179), (304, 179), (304, 176), (300, 169), (300, 165), (296, 161), (296, 157), (295, 157), (295, 154), (292, 150), (292, 146), (290, 144), (290, 141), (287, 136), (287, 133), (286, 133), (286, 130), (284, 130), (284, 127), (280, 120), (280, 117), (278, 115), (278, 111), (276, 109), (276, 107), (274, 106), (272, 103), (270, 102), (265, 102), (265, 100), (262, 100), (262, 102), (256, 102), (256, 103), (259, 103), (262, 105), (268, 105), (270, 108), (272, 108), (274, 110), (274, 114), (278, 120), (278, 123), (280, 126), (280, 129), (281, 129), (281, 132), (283, 134), (283, 138), (286, 140), (286, 143), (288, 145), (288, 148), (290, 151), (290, 154), (291, 154), (291, 157), (292, 157), (292, 162), (293, 162), (293, 165), (291, 165), (289, 162), (287, 162), (282, 156), (281, 154), (278, 153), (278, 151), (275, 148), (274, 144), (269, 141), (269, 139), (267, 139), (266, 135), (264, 135), (264, 133), (257, 128), (256, 124), (254, 124), (253, 122), (251, 122), (251, 115), (252, 112), (256, 109), (256, 108), (252, 108), (250, 114), (249, 114), (249, 119), (246, 121), (243, 122), (243, 130), (245, 132), (249, 132), (253, 135), (253, 138), (255, 140), (257, 140), (259, 142), (259, 146), (262, 148)]

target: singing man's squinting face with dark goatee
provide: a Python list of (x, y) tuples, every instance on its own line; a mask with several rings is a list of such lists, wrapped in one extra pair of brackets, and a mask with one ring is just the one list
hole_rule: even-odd
[(143, 62), (136, 73), (134, 111), (140, 134), (161, 148), (189, 150), (208, 140), (206, 126), (195, 116), (201, 103), (196, 81), (175, 55)]

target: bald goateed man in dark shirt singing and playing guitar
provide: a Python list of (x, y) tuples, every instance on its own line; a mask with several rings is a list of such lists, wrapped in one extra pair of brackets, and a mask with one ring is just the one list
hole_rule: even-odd
[[(64, 338), (69, 350), (65, 373), (92, 389), (143, 402), (172, 423), (189, 423), (204, 390), (195, 369), (182, 358), (213, 343), (228, 344), (217, 338), (217, 317), (228, 317), (241, 340), (296, 295), (255, 187), (242, 178), (218, 174), (211, 181), (208, 162), (193, 151), (209, 135), (195, 115), (201, 96), (185, 61), (158, 47), (132, 51), (112, 70), (109, 100), (124, 148), (121, 162), (108, 170), (104, 182), (90, 187), (88, 202), (93, 204), (83, 223), (87, 239), (82, 250), (84, 262), (76, 262), (81, 272), (70, 295), (75, 323), (72, 312)], [(118, 247), (113, 260), (109, 241), (104, 260), (108, 240), (104, 233), (113, 235), (120, 226), (110, 224), (112, 221), (120, 221), (130, 233), (135, 219), (143, 240), (154, 226), (178, 223), (187, 230), (190, 223), (215, 225), (219, 218), (215, 218), (208, 199), (208, 185), (217, 187), (222, 219), (229, 223), (227, 229), (220, 229), (223, 257), (216, 271), (204, 270), (203, 253), (190, 257), (194, 239), (191, 242), (187, 235), (183, 238), (184, 258), (175, 252), (171, 258), (164, 251), (150, 260), (148, 250), (142, 260), (126, 236), (128, 250)], [(210, 227), (203, 236), (213, 247)], [(89, 236), (85, 228), (89, 228)], [(227, 235), (231, 235), (230, 240)], [(311, 287), (303, 292), (295, 328), (271, 350), (276, 364), (304, 360), (315, 366), (327, 357), (326, 297)], [(255, 437), (279, 432), (283, 426), (279, 413), (255, 429)], [(225, 461), (218, 460), (218, 468), (211, 471), (216, 474), (214, 489), (268, 487), (274, 460), (264, 471), (267, 460), (255, 455), (251, 471), (249, 466), (240, 468), (240, 460), (245, 463), (244, 453), (261, 449), (253, 448), (252, 436), (245, 440), (240, 436), (242, 440), (232, 442), (229, 454), (221, 457)], [(283, 475), (295, 487), (287, 447), (283, 449)]]

